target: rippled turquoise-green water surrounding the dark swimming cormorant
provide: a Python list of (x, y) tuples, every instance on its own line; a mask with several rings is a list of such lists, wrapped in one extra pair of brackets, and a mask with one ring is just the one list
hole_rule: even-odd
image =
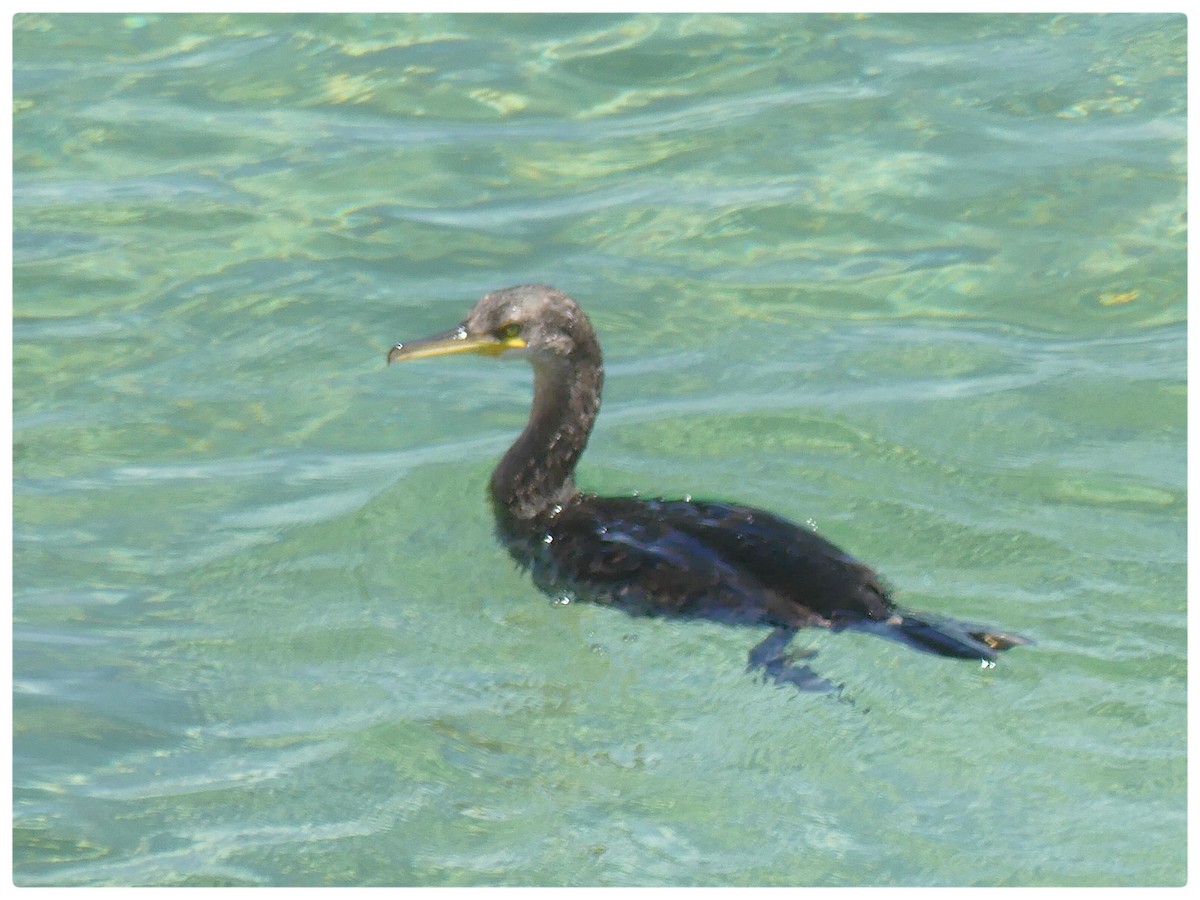
[[(13, 20), (19, 884), (1180, 884), (1186, 20)], [(491, 535), (588, 310), (580, 480), (763, 505), (994, 670), (556, 606)]]

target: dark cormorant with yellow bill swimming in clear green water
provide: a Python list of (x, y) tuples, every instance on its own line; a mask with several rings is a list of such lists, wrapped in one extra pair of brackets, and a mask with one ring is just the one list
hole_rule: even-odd
[(452, 354), (520, 358), (533, 367), (529, 420), (492, 472), (488, 493), (499, 542), (556, 600), (769, 628), (746, 668), (803, 691), (836, 690), (800, 661), (812, 652), (788, 653), (804, 628), (870, 631), (985, 667), (1030, 643), (896, 606), (870, 566), (772, 512), (581, 491), (575, 469), (600, 412), (604, 359), (588, 317), (562, 290), (493, 290), (450, 330), (396, 343), (388, 364)]

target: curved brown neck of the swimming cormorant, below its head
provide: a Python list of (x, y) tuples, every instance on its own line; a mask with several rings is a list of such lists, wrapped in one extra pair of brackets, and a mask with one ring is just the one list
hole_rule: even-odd
[(604, 367), (596, 356), (594, 362), (533, 360), (529, 422), (492, 473), (498, 517), (530, 522), (553, 515), (578, 493), (575, 466), (600, 412)]

